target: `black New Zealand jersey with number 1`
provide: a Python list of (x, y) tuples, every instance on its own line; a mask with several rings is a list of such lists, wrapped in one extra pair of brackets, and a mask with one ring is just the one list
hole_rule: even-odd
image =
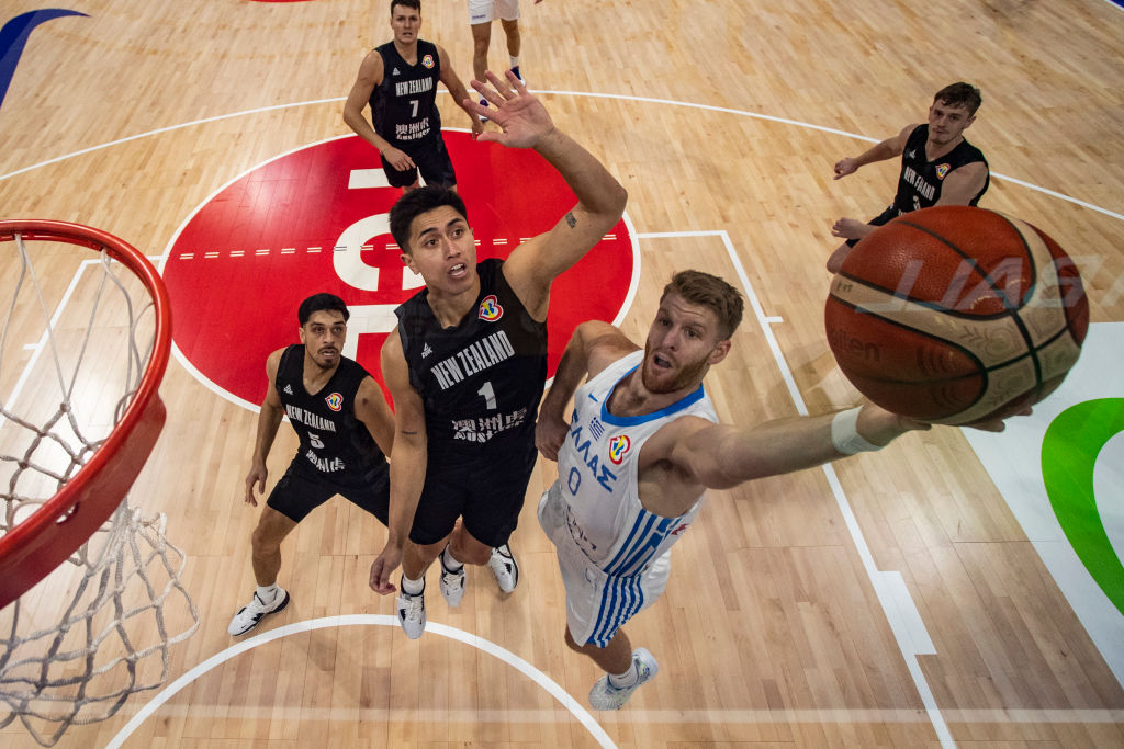
[(398, 332), (410, 385), (425, 403), (429, 456), (475, 460), (481, 449), (534, 449), (535, 417), (546, 383), (546, 323), (515, 295), (504, 261), (477, 265), (480, 295), (454, 328), (442, 328), (428, 290), (401, 304)]

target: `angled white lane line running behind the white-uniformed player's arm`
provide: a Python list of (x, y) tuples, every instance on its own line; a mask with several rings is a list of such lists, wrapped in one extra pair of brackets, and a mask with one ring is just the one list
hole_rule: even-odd
[[(777, 337), (773, 336), (772, 328), (769, 325), (770, 318), (765, 316), (764, 310), (761, 307), (758, 294), (753, 290), (753, 284), (750, 283), (750, 277), (745, 273), (745, 267), (742, 265), (742, 261), (737, 256), (733, 243), (729, 240), (729, 235), (727, 235), (724, 230), (681, 232), (663, 231), (658, 234), (641, 234), (637, 235), (637, 238), (670, 239), (676, 237), (707, 236), (722, 238), (722, 243), (726, 248), (726, 254), (734, 264), (734, 270), (736, 271), (737, 277), (742, 283), (742, 290), (745, 292), (745, 296), (750, 302), (750, 308), (753, 310), (753, 313), (758, 319), (758, 326), (761, 328), (761, 332), (764, 334), (765, 342), (769, 345), (769, 350), (772, 351), (773, 359), (777, 362), (777, 367), (780, 369), (781, 377), (785, 380), (785, 385), (788, 387), (789, 395), (791, 395), (792, 402), (796, 404), (797, 413), (800, 415), (808, 415), (808, 408), (804, 403), (804, 398), (800, 395), (800, 392), (796, 386), (796, 380), (792, 377), (788, 363), (785, 360), (785, 355), (781, 354), (780, 346), (777, 342)], [(901, 652), (901, 658), (905, 660), (910, 677), (913, 677), (914, 686), (921, 695), (922, 704), (925, 705), (925, 712), (928, 714), (930, 723), (933, 725), (933, 730), (936, 731), (936, 736), (941, 740), (942, 747), (955, 747), (957, 743), (952, 738), (952, 733), (949, 731), (944, 716), (941, 714), (941, 707), (936, 704), (933, 691), (930, 688), (928, 682), (925, 679), (925, 674), (922, 672), (921, 664), (917, 660), (918, 655), (932, 655), (936, 652), (936, 649), (933, 647), (928, 632), (925, 631), (925, 624), (921, 614), (917, 612), (917, 605), (913, 602), (913, 599), (909, 595), (909, 591), (905, 585), (905, 579), (898, 572), (885, 572), (878, 569), (874, 565), (874, 557), (870, 552), (870, 547), (867, 545), (867, 539), (862, 535), (862, 529), (859, 527), (859, 521), (854, 515), (854, 511), (851, 509), (851, 503), (846, 497), (846, 493), (843, 491), (843, 486), (840, 484), (839, 477), (835, 475), (835, 469), (830, 463), (822, 466), (822, 468), (824, 474), (827, 476), (827, 484), (831, 486), (832, 494), (835, 496), (835, 502), (840, 508), (840, 513), (843, 515), (843, 522), (846, 524), (847, 531), (851, 533), (851, 539), (853, 540), (855, 549), (859, 552), (859, 558), (862, 560), (862, 568), (867, 572), (867, 577), (870, 579), (870, 584), (874, 588), (874, 593), (878, 595), (878, 601), (882, 606), (882, 613), (886, 615), (886, 619), (890, 624), (890, 629), (894, 631), (894, 639), (898, 643), (898, 650)]]

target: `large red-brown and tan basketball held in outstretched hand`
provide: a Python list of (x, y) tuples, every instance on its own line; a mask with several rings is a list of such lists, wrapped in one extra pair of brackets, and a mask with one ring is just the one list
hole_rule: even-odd
[(913, 211), (855, 245), (832, 281), (827, 342), (895, 413), (942, 424), (1015, 414), (1077, 362), (1089, 302), (1053, 239), (980, 208)]

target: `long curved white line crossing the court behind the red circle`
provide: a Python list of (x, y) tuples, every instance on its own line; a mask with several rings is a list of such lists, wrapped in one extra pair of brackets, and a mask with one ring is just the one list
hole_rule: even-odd
[[(1111, 1), (1111, 0), (1106, 0), (1106, 1)], [(641, 103), (660, 104), (660, 106), (667, 106), (667, 107), (686, 107), (688, 109), (701, 109), (704, 111), (719, 112), (719, 113), (724, 113), (724, 115), (735, 115), (737, 117), (749, 117), (749, 118), (752, 118), (752, 119), (765, 120), (765, 121), (769, 121), (769, 122), (779, 122), (781, 125), (791, 125), (792, 127), (799, 127), (799, 128), (804, 128), (804, 129), (807, 129), (807, 130), (818, 130), (821, 133), (830, 133), (831, 135), (837, 135), (837, 136), (842, 136), (844, 138), (853, 138), (855, 140), (864, 140), (867, 143), (878, 143), (879, 141), (879, 138), (871, 138), (871, 137), (864, 136), (864, 135), (856, 135), (854, 133), (847, 133), (846, 130), (837, 130), (835, 128), (824, 127), (822, 125), (813, 125), (812, 122), (803, 122), (800, 120), (787, 119), (785, 117), (773, 117), (771, 115), (761, 115), (759, 112), (749, 112), (749, 111), (745, 111), (745, 110), (742, 110), (742, 109), (732, 109), (729, 107), (715, 107), (713, 104), (697, 104), (697, 103), (689, 102), (689, 101), (676, 101), (673, 99), (653, 99), (651, 97), (633, 97), (633, 95), (619, 94), (619, 93), (592, 93), (592, 92), (586, 92), (586, 91), (546, 91), (546, 90), (542, 90), (542, 89), (528, 89), (528, 90), (532, 93), (536, 93), (536, 94), (543, 93), (543, 94), (555, 95), (555, 97), (575, 97), (575, 98), (588, 98), (588, 99), (618, 99), (618, 100), (622, 100), (622, 101), (638, 101)], [(447, 91), (445, 91), (444, 89), (442, 89), (438, 93), (447, 93)], [(244, 110), (244, 111), (241, 111), (241, 112), (230, 112), (229, 115), (216, 115), (215, 117), (206, 117), (206, 118), (199, 119), (199, 120), (191, 120), (190, 122), (181, 122), (180, 125), (170, 125), (167, 127), (157, 128), (155, 130), (148, 130), (147, 133), (138, 133), (137, 135), (130, 135), (130, 136), (125, 137), (125, 138), (118, 138), (117, 140), (110, 140), (109, 143), (103, 143), (103, 144), (97, 145), (97, 146), (90, 146), (89, 148), (82, 148), (81, 150), (75, 150), (75, 152), (70, 153), (70, 154), (64, 154), (62, 156), (56, 156), (55, 158), (48, 158), (45, 162), (39, 162), (37, 164), (31, 164), (30, 166), (25, 166), (22, 168), (16, 170), (15, 172), (9, 172), (8, 174), (0, 174), (0, 182), (2, 182), (3, 180), (7, 180), (8, 177), (12, 177), (12, 176), (16, 176), (18, 174), (25, 174), (26, 172), (30, 172), (33, 170), (37, 170), (40, 166), (47, 166), (49, 164), (57, 164), (58, 162), (65, 161), (65, 159), (71, 158), (73, 156), (82, 156), (84, 154), (89, 154), (89, 153), (92, 153), (92, 152), (96, 152), (96, 150), (101, 150), (102, 148), (109, 148), (110, 146), (119, 146), (121, 144), (130, 143), (133, 140), (139, 140), (142, 138), (147, 138), (147, 137), (155, 136), (155, 135), (162, 135), (164, 133), (171, 133), (173, 130), (181, 130), (183, 128), (193, 127), (196, 125), (206, 125), (207, 122), (217, 122), (219, 120), (234, 119), (236, 117), (245, 117), (245, 116), (248, 116), (248, 115), (260, 115), (262, 112), (271, 112), (271, 111), (277, 111), (277, 110), (280, 110), (280, 109), (289, 109), (289, 108), (296, 108), (296, 107), (309, 107), (309, 106), (314, 106), (314, 104), (325, 104), (325, 103), (341, 102), (341, 101), (344, 101), (345, 99), (346, 99), (346, 97), (336, 97), (336, 98), (333, 98), (333, 99), (312, 99), (310, 101), (294, 101), (294, 102), (291, 102), (291, 103), (288, 103), (288, 104), (274, 104), (272, 107), (259, 107), (256, 109), (247, 109), (247, 110)], [(466, 130), (463, 130), (462, 128), (442, 128), (442, 129), (444, 129), (444, 130), (462, 130), (462, 131), (466, 131)], [(343, 137), (351, 137), (351, 136), (343, 136)], [(1075, 204), (1080, 205), (1082, 208), (1088, 208), (1089, 210), (1097, 211), (1098, 213), (1104, 213), (1105, 216), (1109, 216), (1109, 217), (1112, 217), (1114, 219), (1124, 221), (1124, 214), (1116, 213), (1115, 211), (1111, 211), (1107, 208), (1100, 208), (1099, 205), (1094, 205), (1093, 203), (1086, 202), (1084, 200), (1078, 200), (1077, 198), (1070, 198), (1067, 194), (1063, 194), (1063, 193), (1060, 193), (1060, 192), (1054, 192), (1053, 190), (1049, 190), (1046, 188), (1040, 188), (1040, 186), (1037, 186), (1035, 184), (1032, 184), (1030, 182), (1024, 182), (1024, 181), (1015, 179), (1015, 177), (1006, 176), (1005, 174), (999, 174), (998, 172), (991, 172), (991, 177), (992, 179), (997, 179), (997, 180), (1007, 180), (1008, 182), (1013, 182), (1013, 183), (1015, 183), (1015, 184), (1017, 184), (1019, 186), (1026, 188), (1028, 190), (1034, 190), (1034, 191), (1044, 193), (1046, 195), (1050, 195), (1051, 198), (1058, 198), (1059, 200), (1064, 200), (1067, 202), (1075, 203)]]

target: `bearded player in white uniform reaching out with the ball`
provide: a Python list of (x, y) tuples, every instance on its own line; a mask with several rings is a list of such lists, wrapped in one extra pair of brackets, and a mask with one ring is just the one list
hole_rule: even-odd
[[(584, 322), (543, 399), (535, 442), (558, 460), (559, 479), (538, 520), (565, 583), (565, 642), (606, 672), (589, 693), (596, 710), (619, 709), (655, 676), (655, 658), (633, 650), (622, 627), (663, 592), (670, 548), (707, 488), (810, 468), (930, 428), (870, 403), (753, 428), (717, 423), (703, 378), (729, 353), (742, 310), (722, 278), (677, 273), (643, 350), (607, 322)], [(1003, 422), (980, 428), (1000, 431)]]

